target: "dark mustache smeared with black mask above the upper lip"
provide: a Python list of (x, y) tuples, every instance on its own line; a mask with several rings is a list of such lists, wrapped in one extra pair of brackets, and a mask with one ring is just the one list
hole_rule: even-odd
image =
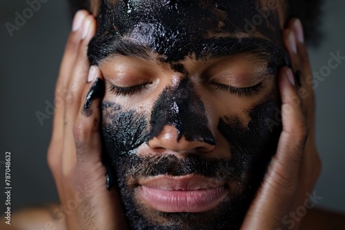
[(246, 167), (233, 159), (206, 158), (188, 154), (177, 158), (174, 154), (151, 154), (148, 156), (119, 156), (117, 160), (119, 178), (146, 178), (150, 176), (185, 176), (197, 174), (215, 180), (244, 180)]

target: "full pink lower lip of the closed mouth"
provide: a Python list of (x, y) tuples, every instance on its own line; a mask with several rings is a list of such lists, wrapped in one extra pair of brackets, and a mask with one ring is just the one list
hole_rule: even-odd
[(139, 186), (145, 204), (164, 212), (201, 212), (216, 207), (226, 197), (224, 186), (215, 189), (164, 190)]

